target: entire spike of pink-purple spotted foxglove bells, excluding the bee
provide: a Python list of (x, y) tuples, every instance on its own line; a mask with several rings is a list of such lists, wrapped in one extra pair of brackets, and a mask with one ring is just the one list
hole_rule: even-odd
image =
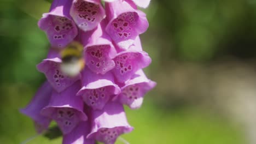
[[(138, 109), (156, 83), (143, 72), (151, 59), (139, 34), (148, 28), (150, 0), (55, 0), (38, 26), (51, 44), (37, 65), (47, 81), (21, 112), (31, 117), (38, 133), (54, 120), (63, 143), (114, 143), (132, 131), (123, 105)], [(83, 45), (84, 69), (76, 76), (61, 70), (60, 52), (72, 41)], [(71, 67), (72, 68), (72, 67)]]

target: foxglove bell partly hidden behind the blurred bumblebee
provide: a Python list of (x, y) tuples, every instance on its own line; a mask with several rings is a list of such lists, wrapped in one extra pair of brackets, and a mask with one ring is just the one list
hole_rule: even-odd
[(59, 52), (50, 49), (48, 58), (37, 65), (37, 69), (44, 73), (51, 86), (53, 86), (57, 92), (63, 91), (79, 79), (79, 76), (69, 77), (62, 74), (60, 69), (61, 62)]

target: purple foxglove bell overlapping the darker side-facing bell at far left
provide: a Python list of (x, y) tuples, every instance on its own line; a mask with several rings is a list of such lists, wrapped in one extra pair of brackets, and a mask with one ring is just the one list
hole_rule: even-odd
[(80, 81), (77, 81), (61, 93), (53, 91), (49, 105), (41, 111), (42, 115), (57, 122), (63, 134), (72, 131), (80, 121), (87, 120), (83, 100), (75, 95), (80, 88)]

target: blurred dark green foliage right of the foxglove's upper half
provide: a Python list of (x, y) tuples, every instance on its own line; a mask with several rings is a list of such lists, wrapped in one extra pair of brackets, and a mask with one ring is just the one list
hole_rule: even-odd
[(255, 8), (254, 0), (155, 0), (146, 9), (150, 27), (144, 37), (159, 41), (154, 48), (163, 62), (251, 58), (256, 56)]

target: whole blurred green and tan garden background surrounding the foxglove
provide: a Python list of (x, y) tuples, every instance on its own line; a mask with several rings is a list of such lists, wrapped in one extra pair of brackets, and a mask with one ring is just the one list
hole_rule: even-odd
[[(21, 115), (43, 74), (49, 42), (37, 27), (50, 1), (0, 1), (0, 143), (35, 133)], [(256, 0), (152, 0), (141, 35), (158, 86), (139, 110), (126, 107), (133, 143), (256, 143)], [(61, 143), (39, 136), (30, 143)], [(120, 140), (117, 143), (121, 143)]]

